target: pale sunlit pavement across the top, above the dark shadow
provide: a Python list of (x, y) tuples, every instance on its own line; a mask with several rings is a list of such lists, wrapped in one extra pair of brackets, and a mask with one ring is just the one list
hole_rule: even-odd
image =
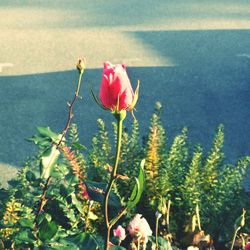
[(173, 66), (136, 31), (249, 29), (248, 1), (1, 1), (0, 76), (64, 71), (77, 56)]

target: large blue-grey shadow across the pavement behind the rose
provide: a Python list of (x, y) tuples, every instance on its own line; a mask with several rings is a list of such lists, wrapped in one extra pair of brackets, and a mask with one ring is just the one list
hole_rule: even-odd
[[(128, 67), (133, 86), (141, 81), (136, 117), (141, 134), (148, 130), (154, 104), (163, 105), (163, 123), (170, 140), (182, 127), (189, 128), (192, 143), (210, 147), (214, 130), (225, 124), (228, 161), (250, 154), (250, 31), (136, 32), (134, 36), (175, 67)], [(91, 97), (98, 93), (101, 69), (87, 69), (74, 109), (81, 142), (89, 146), (96, 120), (114, 121)], [(20, 166), (36, 146), (24, 139), (36, 126), (61, 131), (67, 120), (66, 102), (71, 100), (77, 71), (0, 77), (0, 162)], [(130, 123), (132, 118), (127, 119)]]

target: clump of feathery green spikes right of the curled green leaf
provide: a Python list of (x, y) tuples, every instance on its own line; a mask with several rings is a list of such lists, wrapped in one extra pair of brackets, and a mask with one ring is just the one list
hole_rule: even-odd
[[(201, 146), (194, 149), (188, 146), (186, 128), (174, 138), (172, 145), (166, 147), (159, 110), (156, 108), (152, 116), (145, 149), (144, 204), (150, 207), (151, 214), (160, 209), (164, 218), (167, 214), (164, 214), (166, 208), (161, 207), (162, 198), (166, 199), (165, 203), (171, 200), (170, 231), (177, 238), (182, 237), (186, 230), (191, 231), (194, 215), (200, 216), (202, 228), (214, 238), (217, 235), (226, 238), (230, 233), (224, 232), (228, 232), (237, 211), (244, 207), (240, 194), (249, 157), (240, 159), (236, 166), (224, 163), (223, 125), (219, 125), (207, 157)], [(237, 207), (239, 204), (241, 207)], [(163, 234), (166, 221), (164, 225)]]

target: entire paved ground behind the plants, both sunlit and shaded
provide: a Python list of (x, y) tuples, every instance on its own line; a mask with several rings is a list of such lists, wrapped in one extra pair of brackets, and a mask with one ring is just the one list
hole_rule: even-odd
[[(99, 110), (102, 62), (126, 63), (141, 80), (137, 117), (146, 132), (155, 101), (172, 138), (188, 126), (190, 140), (210, 145), (225, 124), (228, 161), (250, 154), (249, 1), (54, 0), (0, 1), (0, 165), (21, 166), (35, 147), (35, 127), (60, 131), (87, 59), (84, 96), (75, 121), (90, 144)], [(91, 114), (91, 115), (90, 115)]]

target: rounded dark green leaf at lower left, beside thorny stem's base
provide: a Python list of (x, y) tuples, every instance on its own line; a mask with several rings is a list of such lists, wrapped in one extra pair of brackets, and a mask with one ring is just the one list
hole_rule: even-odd
[(38, 238), (41, 241), (47, 241), (52, 239), (58, 231), (58, 226), (53, 221), (48, 221), (46, 218), (39, 225)]

